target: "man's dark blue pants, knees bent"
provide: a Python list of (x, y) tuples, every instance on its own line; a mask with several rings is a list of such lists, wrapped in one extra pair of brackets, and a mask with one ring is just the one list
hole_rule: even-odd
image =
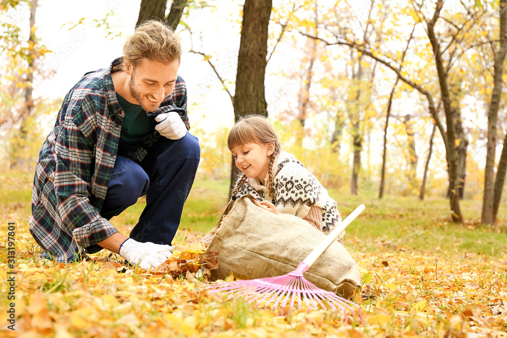
[(179, 140), (160, 137), (141, 163), (117, 156), (100, 214), (111, 219), (146, 195), (130, 238), (171, 245), (199, 158), (199, 141), (190, 133)]

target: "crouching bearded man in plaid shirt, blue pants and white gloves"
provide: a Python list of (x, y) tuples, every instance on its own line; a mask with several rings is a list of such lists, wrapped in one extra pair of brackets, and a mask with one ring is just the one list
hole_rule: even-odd
[[(71, 262), (105, 248), (149, 269), (171, 254), (200, 157), (177, 75), (180, 39), (147, 21), (123, 52), (67, 93), (41, 149), (29, 223), (43, 257)], [(143, 195), (128, 238), (109, 220)]]

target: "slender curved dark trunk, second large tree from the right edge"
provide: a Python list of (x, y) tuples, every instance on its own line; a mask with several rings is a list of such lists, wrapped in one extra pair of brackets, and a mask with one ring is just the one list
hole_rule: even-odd
[(433, 48), (433, 56), (437, 64), (437, 71), (439, 75), (440, 91), (442, 94), (442, 100), (444, 101), (444, 111), (446, 116), (447, 126), (447, 161), (449, 164), (449, 204), (451, 207), (451, 216), (453, 222), (462, 223), (463, 217), (459, 208), (459, 196), (458, 196), (458, 158), (455, 148), (456, 144), (456, 131), (454, 126), (454, 111), (451, 104), (449, 87), (447, 84), (447, 72), (445, 71), (444, 62), (442, 59), (442, 53), (440, 51), (440, 43), (437, 36), (434, 33), (434, 25), (439, 19), (440, 11), (442, 10), (443, 1), (437, 2), (437, 7), (433, 14), (431, 21), (427, 22), (427, 33), (428, 38)]

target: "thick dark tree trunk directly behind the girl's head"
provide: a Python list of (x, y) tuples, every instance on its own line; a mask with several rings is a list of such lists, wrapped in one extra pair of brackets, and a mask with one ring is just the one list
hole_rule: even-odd
[[(268, 25), (271, 7), (271, 0), (245, 0), (234, 93), (234, 119), (236, 122), (248, 114), (268, 116), (264, 76), (268, 54)], [(231, 169), (232, 190), (239, 173), (234, 161), (232, 161)]]

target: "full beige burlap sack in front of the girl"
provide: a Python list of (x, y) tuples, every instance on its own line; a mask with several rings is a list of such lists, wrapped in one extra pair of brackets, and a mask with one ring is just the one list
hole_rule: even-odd
[[(307, 221), (263, 210), (250, 198), (238, 199), (212, 231), (216, 234), (207, 250), (219, 251), (220, 261), (219, 268), (211, 270), (213, 281), (227, 278), (231, 271), (249, 279), (287, 274), (325, 237)], [(317, 258), (304, 277), (345, 298), (360, 291), (357, 264), (337, 241)]]

